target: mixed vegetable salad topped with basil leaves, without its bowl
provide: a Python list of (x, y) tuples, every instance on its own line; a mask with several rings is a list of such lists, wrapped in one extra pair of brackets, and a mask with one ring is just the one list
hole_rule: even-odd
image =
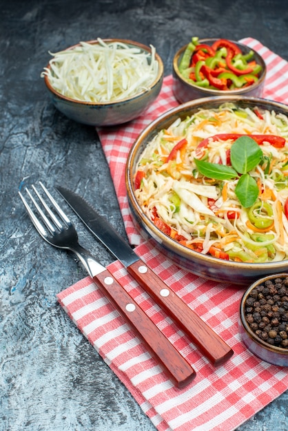
[(161, 130), (139, 158), (136, 199), (155, 226), (236, 262), (288, 258), (288, 118), (225, 103)]

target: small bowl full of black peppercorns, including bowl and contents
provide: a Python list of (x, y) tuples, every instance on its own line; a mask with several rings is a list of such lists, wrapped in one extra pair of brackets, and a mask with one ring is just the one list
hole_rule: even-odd
[(263, 277), (240, 302), (240, 335), (263, 361), (288, 366), (288, 273)]

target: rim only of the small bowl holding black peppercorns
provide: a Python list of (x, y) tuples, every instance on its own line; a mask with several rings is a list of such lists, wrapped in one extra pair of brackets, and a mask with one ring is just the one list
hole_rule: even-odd
[[(278, 346), (272, 346), (269, 343), (266, 343), (265, 341), (263, 341), (262, 339), (260, 339), (254, 332), (253, 330), (251, 330), (251, 328), (249, 327), (249, 324), (247, 324), (247, 320), (245, 318), (245, 302), (247, 299), (247, 296), (249, 295), (249, 293), (259, 284), (263, 284), (266, 280), (272, 280), (274, 278), (283, 278), (283, 277), (288, 277), (288, 273), (278, 273), (278, 274), (271, 274), (271, 275), (267, 275), (266, 277), (262, 277), (259, 278), (258, 280), (256, 280), (256, 282), (252, 283), (248, 288), (247, 291), (245, 291), (245, 293), (243, 294), (243, 297), (240, 301), (240, 322), (243, 326), (243, 328), (246, 331), (246, 334), (249, 336), (249, 338), (254, 341), (256, 344), (258, 344), (258, 346), (265, 348), (266, 350), (268, 350), (269, 352), (272, 353), (277, 353), (278, 355), (284, 355), (288, 357), (288, 348), (282, 348), (282, 347), (278, 347)], [(288, 359), (288, 358), (287, 358)]]

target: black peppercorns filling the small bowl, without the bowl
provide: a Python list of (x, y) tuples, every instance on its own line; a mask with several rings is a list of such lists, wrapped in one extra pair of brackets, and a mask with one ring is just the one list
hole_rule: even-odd
[(245, 318), (260, 339), (288, 348), (288, 277), (254, 287), (245, 301)]

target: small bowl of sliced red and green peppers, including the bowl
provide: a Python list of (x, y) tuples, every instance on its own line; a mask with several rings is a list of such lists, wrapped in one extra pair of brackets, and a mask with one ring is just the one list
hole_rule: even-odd
[(255, 50), (227, 39), (198, 39), (176, 52), (173, 92), (179, 103), (226, 94), (261, 97), (266, 65)]

